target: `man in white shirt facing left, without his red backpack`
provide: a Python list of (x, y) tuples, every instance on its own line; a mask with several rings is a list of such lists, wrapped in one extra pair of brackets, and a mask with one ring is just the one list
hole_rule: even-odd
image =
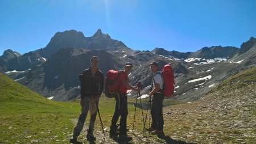
[(152, 98), (151, 127), (147, 129), (152, 134), (163, 134), (163, 78), (161, 73), (158, 73), (158, 63), (150, 63), (150, 69), (154, 73), (151, 82), (151, 91), (149, 93), (150, 99)]

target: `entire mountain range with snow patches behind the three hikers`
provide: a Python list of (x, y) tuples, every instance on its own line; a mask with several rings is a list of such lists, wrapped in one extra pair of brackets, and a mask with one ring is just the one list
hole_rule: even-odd
[[(98, 67), (104, 74), (109, 69), (122, 70), (125, 62), (133, 63), (130, 83), (143, 83), (143, 98), (147, 97), (152, 78), (150, 62), (158, 62), (159, 70), (172, 63), (175, 94), (171, 99), (194, 101), (231, 75), (255, 67), (256, 39), (251, 37), (241, 48), (211, 46), (187, 53), (155, 48), (150, 52), (128, 48), (101, 29), (92, 37), (71, 30), (57, 32), (45, 48), (25, 54), (6, 50), (0, 56), (0, 71), (48, 99), (67, 101), (79, 98), (77, 75), (90, 66), (92, 56), (100, 57)], [(136, 94), (128, 95), (132, 98)]]

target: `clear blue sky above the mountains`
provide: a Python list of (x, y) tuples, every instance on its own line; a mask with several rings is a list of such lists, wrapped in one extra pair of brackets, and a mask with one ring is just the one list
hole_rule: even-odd
[(256, 37), (256, 0), (0, 0), (0, 55), (44, 48), (56, 32), (100, 28), (134, 50), (195, 52)]

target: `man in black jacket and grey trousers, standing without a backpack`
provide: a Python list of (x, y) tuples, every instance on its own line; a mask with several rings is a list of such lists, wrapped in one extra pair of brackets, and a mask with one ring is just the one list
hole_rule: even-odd
[(98, 70), (98, 62), (99, 58), (97, 56), (93, 56), (92, 58), (90, 58), (90, 68), (86, 69), (81, 75), (81, 114), (77, 121), (76, 127), (74, 128), (73, 138), (70, 139), (71, 143), (77, 142), (77, 137), (79, 136), (82, 128), (84, 127), (88, 111), (90, 111), (90, 125), (87, 130), (86, 138), (89, 141), (96, 140), (93, 135), (94, 122), (97, 116), (96, 104), (98, 106), (98, 101), (103, 91), (104, 84), (104, 76), (103, 73)]

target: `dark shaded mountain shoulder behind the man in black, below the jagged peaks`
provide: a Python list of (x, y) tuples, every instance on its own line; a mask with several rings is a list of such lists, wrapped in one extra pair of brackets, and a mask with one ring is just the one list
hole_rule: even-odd
[(70, 100), (80, 95), (78, 75), (90, 67), (90, 58), (100, 57), (102, 71), (122, 67), (125, 61), (105, 50), (85, 50), (65, 48), (58, 50), (42, 66), (32, 68), (18, 82), (31, 90), (53, 100)]

